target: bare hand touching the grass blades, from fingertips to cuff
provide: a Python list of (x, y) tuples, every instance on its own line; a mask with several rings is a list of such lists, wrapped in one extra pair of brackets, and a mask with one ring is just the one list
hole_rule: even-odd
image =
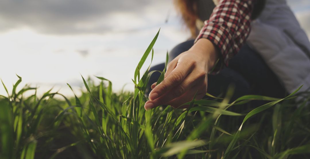
[(168, 64), (165, 78), (160, 84), (151, 86), (153, 90), (144, 105), (145, 110), (160, 105), (177, 108), (193, 100), (196, 92), (196, 99), (204, 97), (207, 92), (207, 73), (217, 59), (218, 52), (211, 41), (199, 39), (192, 48)]

